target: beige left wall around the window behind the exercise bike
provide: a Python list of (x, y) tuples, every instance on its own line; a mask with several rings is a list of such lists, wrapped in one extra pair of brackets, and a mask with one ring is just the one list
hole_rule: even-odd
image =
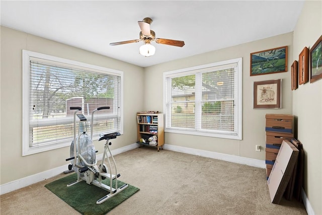
[[(142, 110), (143, 68), (99, 54), (1, 27), (1, 184), (41, 173), (69, 162), (69, 147), (22, 157), (22, 49), (124, 71), (124, 135), (112, 149), (136, 141), (135, 114)], [(95, 148), (103, 152), (102, 141)]]

